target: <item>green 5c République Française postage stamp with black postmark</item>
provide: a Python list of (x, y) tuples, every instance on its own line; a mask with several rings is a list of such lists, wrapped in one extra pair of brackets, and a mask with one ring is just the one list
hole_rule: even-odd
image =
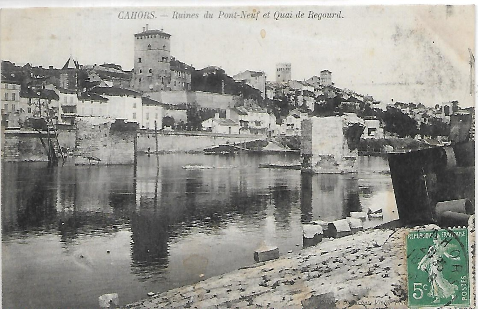
[(467, 228), (411, 231), (406, 246), (409, 308), (471, 305)]

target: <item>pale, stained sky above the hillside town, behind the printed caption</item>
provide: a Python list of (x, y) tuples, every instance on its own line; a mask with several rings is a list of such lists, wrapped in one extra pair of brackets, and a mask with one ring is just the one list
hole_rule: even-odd
[[(243, 10), (260, 11), (258, 19), (217, 18), (219, 11)], [(304, 18), (295, 18), (299, 10)], [(154, 11), (155, 18), (120, 19), (121, 11)], [(174, 11), (199, 18), (174, 19)], [(214, 18), (205, 19), (206, 11)], [(269, 11), (270, 18), (263, 18)], [(275, 20), (275, 11), (293, 18)], [(340, 12), (340, 18), (307, 18), (309, 11)], [(172, 56), (196, 69), (220, 66), (230, 76), (262, 70), (274, 81), (276, 63), (290, 62), (295, 80), (327, 69), (337, 87), (386, 103), (458, 100), (467, 107), (474, 105), (468, 48), (475, 53), (475, 22), (472, 6), (2, 9), (0, 57), (61, 68), (71, 53), (81, 64), (114, 62), (130, 70), (133, 34), (147, 23), (170, 33)]]

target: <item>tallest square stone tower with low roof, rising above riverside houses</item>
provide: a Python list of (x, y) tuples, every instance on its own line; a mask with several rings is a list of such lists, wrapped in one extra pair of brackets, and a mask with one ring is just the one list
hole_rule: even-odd
[(170, 90), (171, 34), (148, 29), (134, 35), (131, 87), (143, 92)]

